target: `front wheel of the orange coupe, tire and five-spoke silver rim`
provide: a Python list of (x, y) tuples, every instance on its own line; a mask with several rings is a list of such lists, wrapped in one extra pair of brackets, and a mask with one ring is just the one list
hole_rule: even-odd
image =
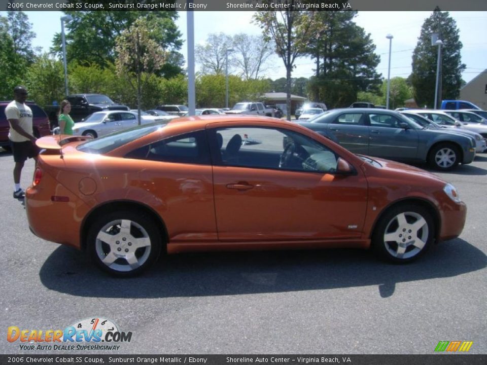
[(372, 249), (386, 261), (408, 263), (428, 250), (435, 232), (433, 218), (426, 208), (399, 205), (380, 217), (372, 235)]

